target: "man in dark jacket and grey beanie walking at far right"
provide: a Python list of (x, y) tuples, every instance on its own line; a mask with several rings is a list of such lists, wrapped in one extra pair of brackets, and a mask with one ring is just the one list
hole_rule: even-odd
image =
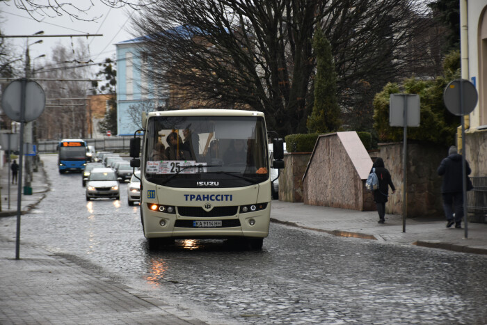
[[(465, 161), (465, 171), (470, 174), (470, 166)], [(448, 150), (448, 157), (441, 161), (438, 167), (438, 175), (443, 176), (441, 194), (443, 198), (443, 209), (447, 218), (447, 228), (462, 228), (463, 219), (463, 175), (462, 175), (462, 156), (452, 145)], [(455, 212), (455, 214), (454, 214)]]

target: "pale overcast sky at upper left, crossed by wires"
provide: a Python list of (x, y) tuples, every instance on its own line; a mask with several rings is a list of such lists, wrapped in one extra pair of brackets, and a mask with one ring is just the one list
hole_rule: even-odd
[[(101, 16), (95, 22), (83, 22), (68, 15), (52, 18), (35, 15), (39, 20), (42, 20), (41, 22), (37, 22), (25, 10), (17, 9), (13, 1), (8, 2), (10, 5), (6, 1), (0, 1), (0, 27), (3, 35), (32, 35), (38, 31), (44, 31), (45, 35), (103, 34), (103, 36), (88, 39), (86, 37), (29, 38), (29, 44), (32, 44), (36, 40), (43, 40), (41, 44), (35, 44), (29, 47), (31, 60), (42, 54), (46, 55), (45, 58), (35, 60), (35, 67), (49, 64), (52, 49), (58, 43), (72, 49), (72, 42), (74, 48), (76, 48), (78, 39), (83, 39), (88, 43), (90, 59), (95, 63), (99, 63), (104, 61), (105, 58), (114, 57), (115, 43), (133, 38), (129, 32), (129, 17), (134, 13), (134, 9), (127, 6), (124, 8), (110, 8), (100, 3), (99, 0), (93, 0), (94, 6), (86, 14), (80, 15), (83, 15), (86, 19)], [(73, 3), (89, 2), (73, 1)], [(10, 38), (10, 42), (13, 43), (13, 49), (17, 56), (25, 55), (25, 38)], [(46, 61), (44, 61), (45, 59)]]

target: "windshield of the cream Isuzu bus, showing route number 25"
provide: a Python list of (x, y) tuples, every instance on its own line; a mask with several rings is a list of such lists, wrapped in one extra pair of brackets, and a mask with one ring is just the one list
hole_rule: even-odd
[(264, 119), (258, 116), (155, 116), (146, 137), (149, 182), (244, 187), (269, 178)]

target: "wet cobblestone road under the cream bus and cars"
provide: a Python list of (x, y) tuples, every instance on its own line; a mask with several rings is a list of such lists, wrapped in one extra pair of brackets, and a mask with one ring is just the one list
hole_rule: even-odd
[(210, 324), (487, 324), (485, 255), (278, 224), (260, 252), (218, 240), (148, 251), (125, 184), (120, 201), (87, 203), (81, 176), (58, 175), (55, 157), (51, 164), (55, 191), (22, 219), (22, 240)]

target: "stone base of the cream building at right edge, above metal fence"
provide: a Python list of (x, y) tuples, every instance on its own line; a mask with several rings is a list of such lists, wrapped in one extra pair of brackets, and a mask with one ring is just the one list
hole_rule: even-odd
[(472, 177), (487, 177), (487, 129), (465, 132), (465, 159)]

